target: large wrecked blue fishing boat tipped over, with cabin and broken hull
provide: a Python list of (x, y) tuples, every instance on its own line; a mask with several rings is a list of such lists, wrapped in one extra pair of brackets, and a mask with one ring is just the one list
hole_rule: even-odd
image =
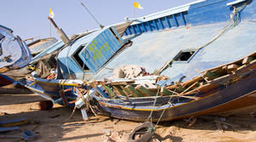
[[(34, 78), (26, 87), (62, 105), (80, 108), (90, 100), (91, 110), (134, 121), (254, 105), (255, 7), (253, 0), (197, 1), (131, 20), (123, 36), (108, 26), (63, 48), (56, 76)], [(156, 77), (121, 78), (117, 86), (104, 80), (124, 64)]]

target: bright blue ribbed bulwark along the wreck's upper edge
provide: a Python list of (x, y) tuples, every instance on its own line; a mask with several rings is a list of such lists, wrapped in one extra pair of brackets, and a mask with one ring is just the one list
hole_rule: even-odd
[[(160, 31), (174, 26), (201, 26), (228, 21), (230, 20), (230, 13), (233, 10), (232, 6), (240, 7), (242, 4), (247, 3), (247, 1), (239, 1), (240, 3), (227, 5), (230, 2), (234, 2), (234, 0), (207, 0), (179, 8), (167, 9), (157, 14), (143, 16), (137, 18), (137, 22), (128, 27), (125, 31), (125, 36), (144, 32), (135, 31), (135, 29), (134, 31), (128, 32), (131, 30), (131, 27), (134, 28), (136, 26), (146, 26), (144, 29), (147, 28), (148, 31)], [(248, 18), (251, 14), (255, 14), (255, 4), (249, 4), (247, 7), (252, 8), (247, 9), (247, 12), (241, 14), (243, 19)]]

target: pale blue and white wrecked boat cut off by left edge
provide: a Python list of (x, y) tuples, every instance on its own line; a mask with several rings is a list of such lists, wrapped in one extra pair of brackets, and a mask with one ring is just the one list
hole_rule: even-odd
[(0, 26), (0, 86), (14, 82), (3, 75), (4, 72), (22, 68), (31, 59), (32, 55), (26, 43), (8, 27)]

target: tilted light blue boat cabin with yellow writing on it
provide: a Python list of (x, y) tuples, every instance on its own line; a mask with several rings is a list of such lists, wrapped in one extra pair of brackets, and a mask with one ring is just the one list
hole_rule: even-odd
[(113, 26), (79, 38), (58, 55), (63, 77), (90, 79), (124, 44)]

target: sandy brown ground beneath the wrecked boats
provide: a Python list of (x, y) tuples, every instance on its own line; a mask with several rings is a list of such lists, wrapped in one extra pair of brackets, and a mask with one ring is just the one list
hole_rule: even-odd
[[(15, 91), (15, 92), (14, 92)], [(12, 93), (9, 93), (12, 92)], [(90, 121), (84, 122), (79, 110), (68, 122), (72, 108), (54, 105), (49, 111), (40, 111), (38, 101), (44, 100), (37, 94), (22, 89), (0, 88), (0, 121), (27, 117), (30, 123), (20, 126), (21, 131), (0, 133), (0, 135), (21, 135), (21, 132), (33, 130), (37, 133), (35, 141), (127, 141), (127, 135), (140, 122), (128, 122), (108, 116), (90, 115)], [(227, 119), (228, 121), (228, 119)], [(184, 120), (161, 122), (156, 127), (156, 133), (151, 141), (173, 142), (240, 142), (256, 141), (256, 121), (232, 120), (232, 124), (239, 128), (224, 126), (224, 132), (218, 130), (211, 120), (197, 118), (195, 124), (189, 128)], [(107, 136), (110, 133), (110, 136)], [(107, 140), (108, 139), (108, 140)], [(111, 140), (112, 139), (112, 140)], [(0, 139), (1, 142), (24, 141), (22, 139)]]

